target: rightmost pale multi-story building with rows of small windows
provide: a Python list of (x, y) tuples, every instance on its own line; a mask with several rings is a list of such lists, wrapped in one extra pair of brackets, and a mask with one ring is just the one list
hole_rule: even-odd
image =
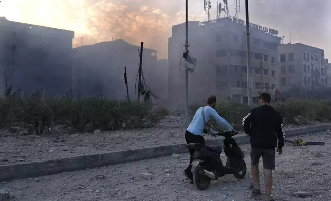
[(277, 46), (280, 91), (294, 87), (319, 88), (328, 83), (324, 50), (302, 43)]

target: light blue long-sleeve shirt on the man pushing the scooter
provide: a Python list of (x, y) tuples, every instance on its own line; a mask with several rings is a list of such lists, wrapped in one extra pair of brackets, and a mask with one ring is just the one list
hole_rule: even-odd
[[(194, 114), (193, 120), (190, 123), (189, 127), (186, 129), (190, 133), (194, 135), (203, 135), (204, 130), (204, 119), (202, 114), (203, 107), (200, 107)], [(232, 126), (222, 117), (220, 117), (216, 110), (210, 106), (205, 106), (204, 108), (204, 114), (205, 114), (205, 123), (207, 123), (211, 117), (217, 120), (220, 124), (222, 124), (225, 128), (227, 128), (229, 131), (232, 131)]]

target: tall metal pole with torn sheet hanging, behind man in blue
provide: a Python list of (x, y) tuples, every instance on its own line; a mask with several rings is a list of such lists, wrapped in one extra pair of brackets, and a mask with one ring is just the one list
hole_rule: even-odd
[[(185, 1), (185, 52), (189, 50), (188, 36), (188, 0)], [(189, 124), (189, 72), (185, 71), (185, 126)]]

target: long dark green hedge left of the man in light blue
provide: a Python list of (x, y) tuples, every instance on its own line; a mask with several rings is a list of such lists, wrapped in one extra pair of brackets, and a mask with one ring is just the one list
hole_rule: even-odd
[(102, 96), (43, 97), (42, 91), (37, 91), (28, 95), (7, 94), (0, 99), (0, 128), (30, 125), (38, 134), (57, 125), (79, 132), (152, 127), (166, 115), (164, 108)]

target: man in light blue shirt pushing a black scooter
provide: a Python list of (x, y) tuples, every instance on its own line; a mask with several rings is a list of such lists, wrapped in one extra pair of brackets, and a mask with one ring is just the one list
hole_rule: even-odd
[[(204, 126), (206, 123), (209, 122), (211, 118), (214, 118), (223, 125), (227, 130), (232, 131), (233, 133), (237, 133), (235, 129), (222, 117), (220, 117), (216, 110), (214, 109), (216, 106), (216, 96), (211, 95), (207, 99), (207, 106), (200, 107), (194, 114), (193, 120), (190, 123), (189, 127), (186, 129), (185, 132), (185, 139), (186, 143), (201, 143), (205, 145), (205, 138), (203, 137), (204, 133)], [(210, 133), (210, 134), (216, 134), (216, 133)], [(189, 150), (190, 152), (190, 164), (189, 166), (184, 170), (184, 175), (190, 180), (191, 183), (193, 183), (193, 174), (191, 172), (191, 163), (192, 163), (192, 156), (194, 153), (193, 149)]]

